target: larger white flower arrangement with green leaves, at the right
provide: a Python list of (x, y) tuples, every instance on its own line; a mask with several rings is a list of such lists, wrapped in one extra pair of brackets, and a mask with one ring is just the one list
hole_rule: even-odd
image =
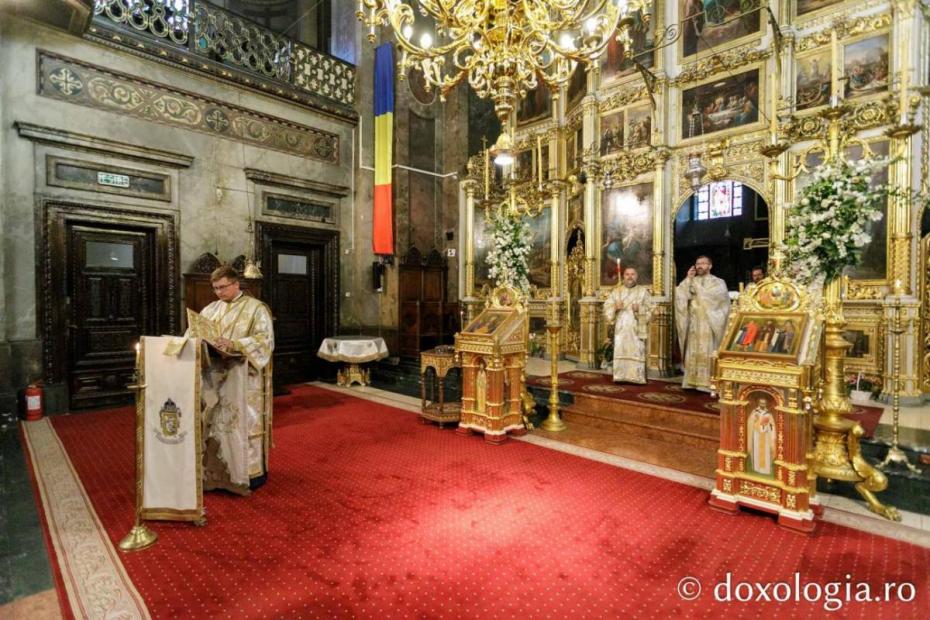
[(862, 260), (862, 248), (872, 240), (871, 223), (882, 218), (882, 207), (894, 190), (872, 186), (872, 175), (887, 159), (838, 160), (817, 167), (798, 201), (788, 208), (788, 264), (794, 277), (809, 284), (830, 282), (847, 266)]

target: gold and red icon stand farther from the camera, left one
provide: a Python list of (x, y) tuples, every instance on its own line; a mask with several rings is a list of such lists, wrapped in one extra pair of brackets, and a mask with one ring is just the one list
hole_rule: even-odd
[(526, 432), (526, 317), (519, 293), (500, 287), (491, 293), (487, 309), (455, 335), (462, 363), (459, 432), (482, 432), (488, 443), (503, 443), (508, 432)]

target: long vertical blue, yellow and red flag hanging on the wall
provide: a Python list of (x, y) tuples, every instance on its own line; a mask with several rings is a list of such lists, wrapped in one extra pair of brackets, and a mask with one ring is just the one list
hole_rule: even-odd
[(394, 46), (375, 48), (375, 205), (372, 249), (394, 253), (392, 153), (394, 148)]

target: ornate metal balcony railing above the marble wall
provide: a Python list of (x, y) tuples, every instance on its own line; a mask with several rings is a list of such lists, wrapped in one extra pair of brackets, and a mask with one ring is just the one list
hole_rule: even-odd
[(355, 115), (354, 65), (205, 0), (94, 0), (88, 34), (342, 116)]

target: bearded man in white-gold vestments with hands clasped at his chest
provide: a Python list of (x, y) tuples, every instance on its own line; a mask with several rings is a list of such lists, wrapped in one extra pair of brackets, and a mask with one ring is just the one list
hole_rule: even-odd
[(614, 381), (646, 383), (646, 337), (652, 302), (649, 289), (637, 284), (634, 267), (623, 270), (622, 283), (604, 301), (604, 318), (614, 324)]

